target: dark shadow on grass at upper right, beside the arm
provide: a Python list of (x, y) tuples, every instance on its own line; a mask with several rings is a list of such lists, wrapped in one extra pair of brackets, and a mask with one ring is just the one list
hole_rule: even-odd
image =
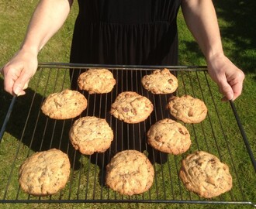
[[(256, 1), (248, 0), (216, 0), (213, 2), (220, 21), (220, 33), (227, 57), (245, 74), (256, 74)], [(226, 25), (225, 22), (228, 22)], [(183, 56), (189, 53), (189, 60), (202, 58), (202, 52), (195, 42), (182, 40), (185, 49), (180, 51)], [(256, 78), (256, 77), (254, 77)]]

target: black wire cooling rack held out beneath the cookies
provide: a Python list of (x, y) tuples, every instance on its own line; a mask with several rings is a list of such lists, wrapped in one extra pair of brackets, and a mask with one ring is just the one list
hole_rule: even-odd
[[(88, 68), (107, 68), (116, 78), (116, 86), (108, 94), (85, 94), (88, 108), (81, 116), (94, 115), (106, 118), (115, 139), (106, 152), (83, 156), (75, 151), (68, 132), (75, 119), (53, 120), (43, 115), (40, 107), (51, 93), (71, 88), (73, 72)], [(190, 94), (200, 98), (208, 108), (206, 119), (199, 124), (183, 124), (188, 128), (192, 146), (188, 152), (173, 156), (150, 152), (145, 133), (150, 125), (162, 118), (171, 118), (166, 110), (171, 94), (155, 95), (140, 84), (145, 74), (158, 68), (168, 68), (178, 77), (175, 94)], [(26, 95), (14, 97), (2, 122), (0, 155), (4, 175), (0, 183), (0, 203), (178, 203), (178, 204), (249, 204), (255, 206), (255, 159), (234, 102), (220, 102), (217, 87), (209, 79), (206, 67), (185, 66), (116, 66), (73, 63), (40, 63), (30, 81)], [(119, 122), (109, 115), (116, 96), (122, 91), (136, 91), (149, 98), (154, 111), (146, 121), (137, 125)], [(12, 146), (12, 149), (6, 149)], [(21, 163), (33, 152), (51, 148), (66, 152), (71, 160), (70, 179), (59, 193), (48, 197), (33, 197), (19, 187), (18, 173)], [(124, 149), (137, 149), (146, 155), (150, 152), (155, 176), (153, 186), (144, 194), (120, 195), (105, 185), (105, 166), (113, 153)], [(230, 167), (233, 188), (213, 199), (203, 199), (185, 189), (178, 172), (181, 160), (196, 150), (210, 152)], [(246, 176), (246, 178), (244, 177)]]

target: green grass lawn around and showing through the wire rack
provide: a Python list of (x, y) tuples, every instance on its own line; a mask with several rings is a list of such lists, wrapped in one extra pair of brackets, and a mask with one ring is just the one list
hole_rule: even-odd
[[(4, 1), (0, 0), (0, 66), (6, 63), (19, 49), (19, 45), (22, 42), (24, 34), (26, 33), (26, 25), (29, 22), (29, 17), (33, 12), (33, 8), (36, 6), (38, 1)], [(50, 39), (50, 42), (43, 48), (39, 55), (40, 62), (68, 62), (69, 61), (69, 52), (71, 46), (71, 37), (74, 26), (75, 15), (78, 12), (77, 2), (74, 1), (74, 7), (72, 8), (71, 15), (69, 15), (67, 22), (64, 24), (64, 27), (57, 33), (53, 39)], [(255, 72), (255, 64), (254, 57), (256, 53), (256, 44), (254, 35), (255, 33), (255, 12), (253, 9), (255, 8), (255, 1), (247, 1), (243, 3), (243, 1), (238, 0), (227, 0), (227, 1), (216, 1), (214, 2), (216, 5), (216, 11), (219, 15), (220, 29), (223, 36), (223, 48), (227, 53), (230, 60), (234, 61), (241, 69), (244, 70), (246, 74), (246, 79), (244, 81), (244, 91), (243, 94), (235, 101), (235, 105), (240, 115), (240, 120), (244, 126), (244, 130), (247, 134), (247, 139), (250, 142), (251, 149), (254, 152), (254, 156), (256, 153), (256, 109), (254, 107), (253, 102), (256, 101), (256, 95), (254, 94), (256, 83), (256, 72)], [(232, 11), (232, 12), (230, 12)], [(178, 15), (178, 29), (180, 32), (179, 40), (180, 40), (180, 64), (184, 65), (205, 65), (205, 61), (202, 57), (202, 53), (199, 50), (199, 47), (194, 42), (191, 34), (185, 26), (185, 22), (182, 19), (182, 14)], [(15, 199), (16, 198), (16, 188), (19, 187), (18, 181), (16, 179), (16, 173), (19, 170), (19, 165), (22, 163), (26, 156), (34, 152), (33, 148), (43, 148), (46, 149), (49, 144), (44, 142), (44, 140), (49, 139), (54, 146), (58, 146), (60, 143), (58, 140), (54, 140), (55, 138), (64, 140), (63, 135), (67, 135), (68, 128), (70, 127), (70, 123), (67, 122), (63, 124), (63, 122), (50, 122), (45, 118), (37, 118), (40, 103), (43, 100), (43, 97), (49, 94), (49, 92), (58, 90), (62, 87), (61, 81), (63, 79), (67, 80), (67, 74), (61, 73), (57, 74), (55, 72), (51, 77), (47, 77), (47, 70), (44, 74), (36, 74), (29, 84), (29, 89), (27, 91), (27, 95), (25, 97), (19, 98), (16, 101), (15, 108), (12, 112), (15, 117), (11, 117), (9, 121), (9, 125), (7, 126), (7, 130), (5, 135), (0, 143), (0, 197), (2, 198), (5, 192), (6, 182), (9, 180), (9, 173), (13, 173), (12, 179), (9, 183), (9, 193), (7, 199)], [(55, 77), (57, 77), (57, 86), (54, 86)], [(201, 75), (199, 75), (202, 78)], [(38, 84), (38, 79), (40, 78), (40, 83)], [(189, 77), (183, 77), (186, 82), (196, 81), (194, 75), (192, 75), (191, 79)], [(43, 84), (49, 82), (50, 87), (47, 88), (47, 91), (42, 87)], [(68, 81), (64, 84), (65, 87), (68, 86)], [(194, 84), (193, 87), (197, 87), (198, 84)], [(202, 85), (205, 85), (202, 83)], [(5, 93), (2, 90), (3, 81), (2, 77), (0, 78), (0, 122), (2, 124), (6, 111), (8, 110), (9, 103), (11, 100), (11, 96)], [(228, 103), (220, 102), (221, 95), (218, 93), (217, 87), (215, 84), (211, 82), (212, 91), (214, 94), (214, 98), (216, 99), (216, 108), (220, 111), (221, 122), (223, 127), (225, 127), (225, 134), (223, 135), (223, 131), (220, 128), (220, 125), (215, 123), (216, 121), (216, 113), (214, 107), (209, 98), (209, 92), (204, 91), (195, 91), (190, 86), (186, 86), (186, 91), (189, 93), (195, 93), (196, 96), (201, 98), (202, 96), (205, 98), (206, 105), (209, 106), (209, 115), (213, 122), (213, 130), (211, 128), (211, 124), (209, 120), (202, 123), (202, 127), (199, 125), (187, 125), (189, 131), (192, 133), (192, 138), (195, 139), (195, 143), (192, 144), (192, 149), (209, 149), (210, 152), (214, 154), (221, 153), (221, 157), (223, 161), (227, 162), (231, 166), (231, 172), (235, 173), (237, 171), (238, 179), (240, 180), (241, 187), (244, 190), (244, 194), (249, 200), (252, 200), (254, 203), (256, 202), (256, 193), (255, 193), (255, 173), (251, 166), (251, 161), (248, 159), (247, 152), (244, 148), (243, 142), (240, 141), (240, 133), (237, 132), (237, 125), (234, 122), (234, 116), (230, 111), (230, 107)], [(33, 91), (39, 92), (40, 94), (36, 94), (36, 98), (33, 98)], [(182, 90), (179, 92), (180, 94), (184, 93)], [(36, 114), (31, 114), (28, 120), (28, 124), (26, 122), (26, 115), (28, 115), (29, 108), (26, 106), (30, 104), (32, 100), (35, 100), (34, 106), (31, 109), (31, 112)], [(40, 116), (39, 116), (40, 117)], [(231, 120), (230, 120), (231, 119)], [(39, 120), (39, 123), (36, 125), (36, 121)], [(20, 123), (24, 122), (24, 123)], [(45, 125), (48, 127), (55, 127), (57, 129), (56, 134), (50, 135), (50, 133), (46, 133), (46, 135), (40, 135), (42, 130), (40, 127), (44, 127)], [(22, 126), (21, 126), (22, 125)], [(25, 132), (21, 132), (22, 128), (25, 128)], [(32, 128), (33, 127), (33, 128)], [(63, 129), (64, 127), (64, 129)], [(207, 135), (203, 135), (202, 128), (207, 131)], [(37, 134), (37, 132), (39, 134)], [(214, 135), (220, 136), (217, 138), (217, 142), (214, 142)], [(26, 142), (26, 139), (33, 136), (33, 142)], [(22, 139), (24, 141), (19, 142), (18, 139)], [(225, 142), (225, 139), (232, 139), (232, 142)], [(217, 144), (217, 146), (215, 146)], [(210, 146), (209, 146), (210, 145)], [(61, 146), (65, 146), (65, 150), (68, 149), (70, 152), (71, 146), (67, 143), (61, 144)], [(231, 150), (230, 153), (232, 155), (232, 159), (227, 155), (227, 147)], [(16, 162), (13, 163), (13, 156), (16, 155), (17, 150), (19, 149), (19, 157), (16, 159)], [(175, 168), (175, 162), (178, 162), (179, 157), (175, 159), (175, 157), (170, 157), (170, 165), (172, 168)], [(175, 161), (177, 160), (177, 161)], [(92, 197), (92, 188), (96, 188), (96, 190), (101, 190), (99, 184), (87, 186), (88, 178), (91, 180), (95, 178), (95, 173), (99, 173), (99, 168), (91, 165), (88, 168), (88, 159), (86, 157), (82, 157), (80, 159), (80, 163), (83, 166), (81, 170), (73, 170), (71, 173), (71, 181), (68, 183), (67, 187), (65, 187), (64, 191), (61, 195), (66, 195), (67, 191), (70, 188), (74, 188), (74, 191), (77, 189), (76, 185), (81, 183), (81, 187), (79, 188), (79, 197), (84, 197), (85, 191), (88, 192), (88, 197)], [(234, 164), (233, 164), (234, 163)], [(161, 167), (156, 166), (155, 170), (157, 173), (161, 173)], [(175, 181), (173, 183), (174, 191), (178, 191), (178, 180), (177, 175), (175, 173), (169, 174), (168, 168), (164, 166), (163, 168), (164, 175), (171, 175), (172, 179)], [(176, 172), (176, 171), (175, 171)], [(81, 176), (80, 181), (79, 176)], [(169, 182), (161, 183), (161, 175), (159, 177), (158, 187), (171, 187)], [(152, 187), (152, 194), (156, 190), (156, 185)], [(182, 186), (181, 186), (182, 187)], [(89, 189), (88, 189), (89, 188)], [(237, 190), (237, 178), (235, 178), (234, 182), (234, 197), (235, 191)], [(108, 190), (103, 188), (103, 194), (108, 194)], [(54, 196), (53, 198), (58, 198), (60, 194)], [(72, 192), (71, 197), (75, 198), (76, 193)], [(96, 198), (99, 198), (99, 193), (95, 194)], [(113, 197), (113, 193), (110, 191), (111, 197)], [(147, 197), (147, 193), (145, 197)], [(162, 195), (161, 193), (159, 194)], [(177, 194), (174, 194), (177, 195)], [(189, 197), (192, 195), (192, 198), (197, 198), (194, 194), (189, 194), (184, 189), (182, 192), (183, 197)], [(27, 196), (19, 191), (19, 198), (26, 198)], [(65, 196), (64, 196), (65, 197)], [(119, 196), (117, 196), (119, 197)], [(223, 196), (225, 197), (225, 195)], [(33, 198), (33, 197), (32, 197)], [(126, 198), (126, 197), (124, 197)], [(140, 197), (138, 197), (140, 198)], [(228, 198), (228, 197), (227, 197)], [(237, 197), (238, 200), (241, 197)], [(0, 208), (216, 208), (216, 205), (198, 205), (198, 204), (0, 204)], [(220, 208), (227, 208), (223, 205), (218, 205)], [(231, 205), (229, 208), (251, 208), (251, 206), (241, 206), (241, 205)]]

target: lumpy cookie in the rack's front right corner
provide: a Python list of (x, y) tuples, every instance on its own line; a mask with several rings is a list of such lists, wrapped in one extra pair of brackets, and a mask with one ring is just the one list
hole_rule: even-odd
[(200, 197), (216, 197), (232, 188), (229, 167), (203, 151), (194, 152), (182, 160), (179, 176), (185, 187)]

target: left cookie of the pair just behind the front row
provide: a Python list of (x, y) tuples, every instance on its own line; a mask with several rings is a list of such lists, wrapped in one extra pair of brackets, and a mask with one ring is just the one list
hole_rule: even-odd
[(114, 138), (106, 119), (86, 116), (77, 119), (69, 132), (71, 144), (84, 155), (105, 152)]

